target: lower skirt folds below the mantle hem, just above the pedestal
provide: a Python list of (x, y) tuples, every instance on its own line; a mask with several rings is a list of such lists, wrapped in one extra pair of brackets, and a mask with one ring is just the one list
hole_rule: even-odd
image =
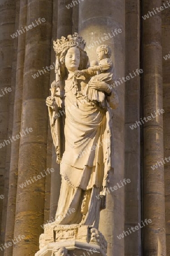
[[(65, 179), (62, 179), (60, 197), (56, 213), (56, 224), (99, 225), (100, 216), (100, 189), (93, 187), (88, 191), (80, 188), (71, 188)], [(64, 202), (64, 203), (63, 203)]]

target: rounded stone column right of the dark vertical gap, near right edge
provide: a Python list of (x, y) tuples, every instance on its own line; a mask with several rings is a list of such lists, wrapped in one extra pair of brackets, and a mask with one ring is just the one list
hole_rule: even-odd
[[(161, 0), (143, 1), (143, 15), (162, 6)], [(143, 20), (143, 117), (163, 108), (162, 85), (162, 13)], [(163, 161), (163, 115), (143, 124), (143, 220), (152, 223), (143, 228), (144, 255), (166, 255), (164, 166), (152, 166)]]

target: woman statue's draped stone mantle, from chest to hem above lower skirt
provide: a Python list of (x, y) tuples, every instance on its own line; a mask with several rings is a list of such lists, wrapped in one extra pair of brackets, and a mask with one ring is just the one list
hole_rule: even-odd
[(106, 111), (75, 95), (72, 87), (66, 81), (65, 110), (59, 97), (54, 97), (54, 107), (48, 108), (57, 162), (70, 187), (102, 189), (107, 187), (108, 173), (113, 170), (111, 108), (117, 108), (118, 97), (116, 92), (106, 97)]

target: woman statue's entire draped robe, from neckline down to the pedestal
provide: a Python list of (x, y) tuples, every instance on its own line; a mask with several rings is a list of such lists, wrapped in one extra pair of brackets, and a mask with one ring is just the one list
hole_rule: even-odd
[[(65, 81), (65, 151), (60, 166), (62, 184), (56, 223), (97, 228), (101, 204), (97, 196), (106, 186), (108, 172), (113, 170), (111, 108), (117, 108), (118, 97), (112, 90), (111, 96), (105, 98), (107, 108), (100, 109), (79, 93), (87, 83), (74, 77)], [(52, 123), (50, 108), (49, 115)], [(60, 134), (55, 127), (59, 126), (52, 127), (53, 139)], [(55, 145), (59, 148), (57, 142), (59, 139)]]

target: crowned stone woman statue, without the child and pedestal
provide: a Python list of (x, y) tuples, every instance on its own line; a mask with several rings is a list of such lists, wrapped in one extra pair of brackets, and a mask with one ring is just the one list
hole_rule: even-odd
[[(112, 110), (118, 106), (113, 86), (91, 75), (76, 76), (88, 68), (86, 42), (76, 33), (54, 42), (56, 81), (46, 100), (57, 162), (62, 176), (56, 224), (98, 228), (99, 195), (104, 195), (113, 170)], [(83, 95), (86, 86), (104, 93), (104, 105)], [(70, 214), (70, 209), (74, 209)], [(62, 217), (61, 217), (62, 216)]]

